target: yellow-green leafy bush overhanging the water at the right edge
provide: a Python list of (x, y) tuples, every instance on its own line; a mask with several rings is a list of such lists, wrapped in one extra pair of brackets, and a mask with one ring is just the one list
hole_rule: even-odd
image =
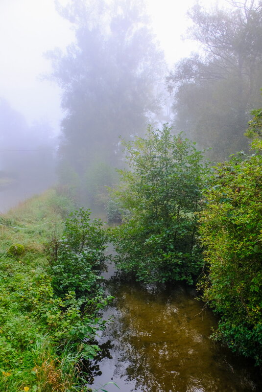
[(262, 156), (243, 153), (214, 168), (201, 237), (203, 299), (221, 316), (214, 336), (262, 363)]

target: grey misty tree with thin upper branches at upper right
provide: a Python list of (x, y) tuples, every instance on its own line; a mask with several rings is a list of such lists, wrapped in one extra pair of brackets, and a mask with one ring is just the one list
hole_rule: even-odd
[(175, 126), (214, 159), (246, 147), (243, 132), (249, 112), (261, 106), (262, 2), (230, 1), (230, 9), (210, 13), (196, 4), (189, 16), (190, 36), (202, 47), (169, 74), (175, 93)]

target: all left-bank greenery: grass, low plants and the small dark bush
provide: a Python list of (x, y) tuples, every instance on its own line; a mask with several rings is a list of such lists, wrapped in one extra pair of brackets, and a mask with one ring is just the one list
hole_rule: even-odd
[[(48, 214), (45, 220), (53, 218), (60, 223), (58, 215), (49, 215), (56, 210), (53, 196), (51, 191), (27, 201), (19, 208), (20, 222), (16, 220), (16, 210), (4, 222), (13, 224), (14, 220), (20, 227), (22, 222), (24, 226), (28, 222), (39, 224), (39, 218), (35, 222), (34, 219), (45, 211)], [(52, 226), (34, 231), (3, 227), (1, 243), (10, 246), (13, 237), (19, 236), (27, 251), (19, 258), (6, 252), (0, 255), (0, 391), (16, 392), (26, 387), (37, 392), (69, 392), (80, 386), (81, 358), (92, 358), (99, 350), (88, 341), (94, 340), (97, 330), (104, 328), (105, 321), (98, 317), (98, 312), (111, 298), (104, 296), (99, 285), (98, 257), (102, 258), (104, 231), (100, 222), (90, 223), (89, 216), (90, 212), (84, 210), (71, 215), (61, 243), (58, 242), (60, 246), (52, 253), (52, 261), (43, 246)], [(57, 237), (60, 235), (58, 231)], [(35, 242), (29, 246), (32, 236)], [(56, 244), (57, 239), (52, 241), (53, 246)], [(76, 258), (67, 270), (66, 260), (72, 254), (85, 256), (85, 252), (88, 267), (83, 268), (88, 273), (81, 280), (80, 267), (73, 265)], [(62, 264), (64, 270), (58, 268), (58, 273), (67, 279), (64, 286), (59, 287), (62, 280), (58, 287), (54, 284), (55, 269), (50, 268), (50, 263), (52, 267)], [(79, 276), (76, 273), (74, 278), (77, 271)], [(76, 281), (80, 282), (79, 288)]]

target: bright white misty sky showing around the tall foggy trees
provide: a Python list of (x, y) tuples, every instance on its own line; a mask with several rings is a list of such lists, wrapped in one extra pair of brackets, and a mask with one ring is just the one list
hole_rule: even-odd
[[(60, 0), (66, 3), (66, 0)], [(190, 21), (186, 11), (195, 0), (147, 0), (153, 29), (165, 50), (169, 67), (197, 46), (183, 42)], [(200, 1), (205, 6), (215, 1)], [(227, 5), (226, 0), (219, 4)], [(56, 133), (62, 118), (60, 91), (41, 79), (51, 66), (43, 53), (65, 49), (72, 41), (70, 23), (55, 11), (54, 0), (0, 0), (0, 97), (9, 101), (29, 123), (45, 119)]]

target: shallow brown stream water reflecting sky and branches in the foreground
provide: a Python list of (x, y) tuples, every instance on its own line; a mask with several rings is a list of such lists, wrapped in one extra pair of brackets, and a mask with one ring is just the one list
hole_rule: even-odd
[(214, 316), (202, 312), (193, 289), (114, 279), (107, 286), (116, 300), (104, 316), (114, 319), (99, 338), (104, 354), (92, 363), (93, 387), (114, 381), (123, 392), (261, 391), (251, 365), (211, 342)]

